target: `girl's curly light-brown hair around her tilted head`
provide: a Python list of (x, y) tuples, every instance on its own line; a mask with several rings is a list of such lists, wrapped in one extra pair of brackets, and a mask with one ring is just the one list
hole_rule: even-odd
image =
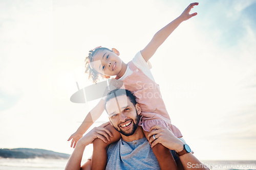
[(103, 78), (101, 77), (102, 74), (100, 74), (95, 69), (91, 68), (91, 66), (89, 65), (89, 61), (92, 62), (93, 56), (96, 53), (98, 53), (99, 51), (103, 51), (103, 50), (111, 51), (109, 48), (99, 47), (99, 48), (96, 48), (95, 50), (90, 50), (89, 55), (84, 60), (86, 62), (86, 64), (85, 64), (86, 71), (85, 72), (89, 75), (89, 79), (92, 80), (93, 83), (97, 83), (99, 80), (102, 80)]

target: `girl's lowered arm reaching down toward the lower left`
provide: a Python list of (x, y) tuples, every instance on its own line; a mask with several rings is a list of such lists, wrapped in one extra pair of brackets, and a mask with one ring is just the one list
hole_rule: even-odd
[[(68, 141), (71, 141), (71, 148), (76, 147), (77, 141), (82, 138), (82, 135), (86, 133), (86, 131), (92, 126), (92, 124), (95, 122), (94, 120), (97, 120), (100, 115), (104, 111), (104, 100), (101, 99), (99, 103), (87, 114), (86, 118), (84, 118), (82, 124), (80, 127), (77, 129), (75, 133), (73, 133)], [(93, 116), (92, 116), (93, 115)], [(73, 145), (74, 144), (74, 145)]]

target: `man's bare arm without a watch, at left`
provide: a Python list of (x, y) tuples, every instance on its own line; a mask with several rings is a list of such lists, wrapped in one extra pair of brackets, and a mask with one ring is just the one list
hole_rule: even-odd
[[(82, 160), (82, 154), (86, 146), (93, 142), (94, 139), (100, 138), (104, 142), (110, 141), (110, 137), (113, 136), (113, 134), (106, 128), (107, 125), (110, 123), (107, 122), (105, 124), (102, 124), (99, 127), (93, 128), (90, 132), (88, 132), (86, 135), (84, 135), (80, 140), (78, 140), (76, 147), (72, 153), (72, 155), (69, 158), (69, 161), (66, 165), (66, 170), (80, 170), (81, 169), (81, 160)], [(82, 166), (83, 169), (87, 169), (86, 165), (90, 165), (89, 163), (84, 164)]]

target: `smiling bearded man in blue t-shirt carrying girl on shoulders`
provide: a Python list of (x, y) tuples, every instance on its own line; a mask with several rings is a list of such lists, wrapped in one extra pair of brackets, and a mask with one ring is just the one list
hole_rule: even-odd
[[(158, 161), (151, 149), (157, 143), (172, 150), (178, 169), (208, 169), (193, 154), (189, 147), (164, 127), (152, 127), (149, 142), (144, 136), (142, 128), (138, 126), (141, 108), (136, 103), (129, 90), (117, 89), (111, 91), (105, 99), (105, 110), (110, 117), (111, 125), (121, 133), (121, 139), (109, 145), (106, 169), (160, 169)], [(66, 169), (90, 169), (91, 160), (80, 166), (85, 147), (94, 139), (107, 141), (112, 137), (111, 132), (104, 128), (109, 123), (94, 128), (84, 135), (72, 153)], [(177, 157), (177, 153), (180, 157)], [(188, 166), (190, 165), (190, 166)], [(191, 166), (194, 165), (194, 166)], [(170, 166), (176, 164), (170, 162)]]

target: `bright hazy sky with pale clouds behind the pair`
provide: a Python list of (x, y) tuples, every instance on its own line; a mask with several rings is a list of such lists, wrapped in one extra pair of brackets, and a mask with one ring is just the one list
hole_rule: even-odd
[[(255, 160), (256, 1), (198, 2), (198, 15), (150, 60), (152, 73), (199, 159)], [(128, 62), (190, 3), (0, 1), (0, 148), (71, 154), (67, 139), (97, 102), (70, 102), (76, 81), (92, 84), (83, 73), (88, 51), (115, 47)], [(93, 127), (107, 120), (104, 113)]]

